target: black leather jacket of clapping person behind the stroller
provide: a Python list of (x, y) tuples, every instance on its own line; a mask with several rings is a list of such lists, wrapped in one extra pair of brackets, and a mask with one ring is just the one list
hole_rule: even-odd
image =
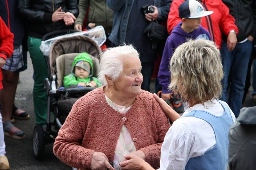
[(66, 29), (63, 20), (52, 22), (52, 14), (59, 7), (78, 15), (77, 0), (19, 0), (18, 11), (28, 22), (28, 35), (42, 38), (46, 33)]

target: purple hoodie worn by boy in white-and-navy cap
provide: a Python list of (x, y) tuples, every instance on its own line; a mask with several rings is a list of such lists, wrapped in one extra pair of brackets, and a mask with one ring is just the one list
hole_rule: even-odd
[(159, 72), (157, 75), (159, 83), (162, 85), (162, 93), (171, 93), (172, 91), (168, 90), (170, 84), (170, 75), (169, 64), (174, 50), (186, 42), (187, 39), (209, 39), (212, 40), (210, 33), (204, 29), (201, 25), (198, 29), (187, 33), (181, 28), (182, 22), (175, 26), (172, 30), (171, 35), (167, 38), (162, 60), (159, 67)]

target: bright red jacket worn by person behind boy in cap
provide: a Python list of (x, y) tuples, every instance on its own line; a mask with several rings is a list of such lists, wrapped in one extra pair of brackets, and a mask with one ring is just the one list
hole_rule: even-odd
[[(173, 0), (167, 20), (167, 30), (171, 34), (173, 27), (180, 21), (179, 6), (184, 0)], [(210, 32), (212, 40), (220, 48), (222, 36), (221, 33), (228, 35), (230, 30), (238, 28), (235, 25), (235, 18), (229, 15), (228, 7), (221, 0), (202, 0), (201, 4), (205, 11), (213, 11), (213, 14), (202, 17), (201, 25)]]

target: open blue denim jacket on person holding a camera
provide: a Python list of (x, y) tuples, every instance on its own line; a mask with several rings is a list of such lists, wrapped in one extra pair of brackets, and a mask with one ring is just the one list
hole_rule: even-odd
[[(154, 0), (158, 9), (157, 21), (166, 22), (172, 0)], [(107, 0), (108, 7), (114, 11), (113, 26), (109, 40), (115, 45), (123, 44), (134, 0)], [(138, 11), (140, 12), (140, 11)]]

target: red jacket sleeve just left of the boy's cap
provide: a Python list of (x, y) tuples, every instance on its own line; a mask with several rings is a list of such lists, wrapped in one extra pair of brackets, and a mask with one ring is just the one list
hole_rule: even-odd
[(172, 29), (181, 21), (179, 17), (179, 6), (184, 0), (173, 0), (168, 14), (167, 30), (171, 34)]

